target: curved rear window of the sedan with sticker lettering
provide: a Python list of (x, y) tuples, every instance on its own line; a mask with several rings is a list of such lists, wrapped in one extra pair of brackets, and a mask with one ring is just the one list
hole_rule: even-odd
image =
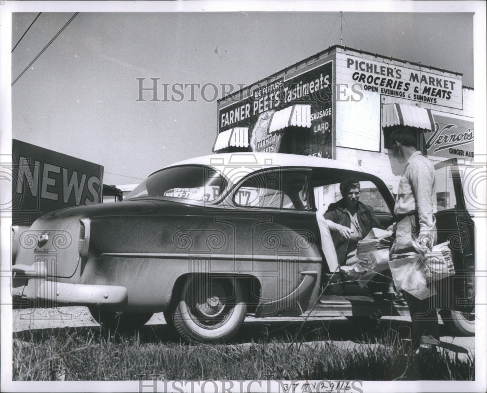
[(226, 190), (228, 182), (209, 166), (184, 165), (163, 169), (149, 176), (126, 197), (165, 196), (213, 202)]

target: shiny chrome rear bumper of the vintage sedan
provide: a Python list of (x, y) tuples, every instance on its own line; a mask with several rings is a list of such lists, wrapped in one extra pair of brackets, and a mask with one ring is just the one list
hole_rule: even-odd
[(73, 305), (123, 304), (127, 288), (114, 285), (69, 284), (47, 281), (46, 268), (37, 262), (32, 266), (14, 265), (12, 296), (29, 301), (49, 301)]

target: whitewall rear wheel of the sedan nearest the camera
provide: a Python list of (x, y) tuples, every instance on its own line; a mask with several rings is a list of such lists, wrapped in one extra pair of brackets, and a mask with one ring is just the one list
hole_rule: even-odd
[(244, 322), (246, 304), (236, 279), (194, 276), (187, 279), (179, 296), (172, 323), (183, 339), (223, 342)]

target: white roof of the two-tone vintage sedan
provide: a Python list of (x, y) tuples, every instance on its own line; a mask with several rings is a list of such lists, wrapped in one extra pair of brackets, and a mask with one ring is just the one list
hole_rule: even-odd
[[(323, 168), (363, 172), (358, 165), (320, 157), (284, 153), (220, 153), (179, 161), (164, 167), (181, 165), (205, 165), (222, 172), (227, 179), (236, 184), (245, 175), (260, 169), (278, 167)], [(162, 169), (161, 169), (162, 170)], [(157, 173), (156, 171), (154, 173)]]

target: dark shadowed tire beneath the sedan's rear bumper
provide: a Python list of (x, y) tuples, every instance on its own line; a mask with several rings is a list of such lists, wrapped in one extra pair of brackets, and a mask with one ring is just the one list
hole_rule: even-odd
[(112, 332), (130, 333), (150, 320), (152, 313), (126, 313), (109, 311), (102, 307), (88, 307), (90, 314), (102, 327)]

